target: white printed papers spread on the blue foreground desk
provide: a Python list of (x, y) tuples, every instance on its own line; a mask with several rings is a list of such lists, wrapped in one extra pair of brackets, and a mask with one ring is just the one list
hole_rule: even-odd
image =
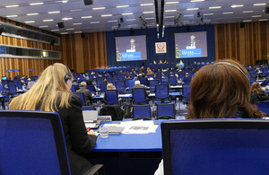
[(148, 134), (155, 133), (158, 125), (153, 121), (136, 120), (120, 122), (120, 127), (125, 127), (122, 134)]

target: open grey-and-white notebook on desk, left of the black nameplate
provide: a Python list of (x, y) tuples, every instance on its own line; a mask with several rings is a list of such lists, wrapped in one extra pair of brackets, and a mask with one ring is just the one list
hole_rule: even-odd
[(100, 120), (97, 120), (97, 110), (82, 110), (82, 115), (86, 128), (97, 129), (100, 126)]

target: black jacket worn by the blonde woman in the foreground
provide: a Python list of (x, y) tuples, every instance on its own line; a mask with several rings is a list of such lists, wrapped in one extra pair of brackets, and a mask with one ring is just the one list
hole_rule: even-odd
[[(59, 108), (56, 104), (65, 134), (65, 144), (72, 175), (81, 175), (92, 167), (87, 159), (93, 150), (97, 136), (87, 135), (82, 116), (82, 101), (77, 95), (70, 98), (70, 107)], [(39, 109), (38, 105), (36, 109)]]

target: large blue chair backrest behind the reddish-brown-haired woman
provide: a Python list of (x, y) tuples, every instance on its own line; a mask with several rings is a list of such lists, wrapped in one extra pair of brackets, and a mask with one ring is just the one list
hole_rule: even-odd
[(162, 122), (164, 174), (267, 174), (268, 135), (262, 119)]

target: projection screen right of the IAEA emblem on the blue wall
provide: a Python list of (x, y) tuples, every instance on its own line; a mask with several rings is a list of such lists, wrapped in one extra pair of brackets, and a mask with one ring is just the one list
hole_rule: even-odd
[(175, 34), (176, 58), (207, 57), (206, 31)]

